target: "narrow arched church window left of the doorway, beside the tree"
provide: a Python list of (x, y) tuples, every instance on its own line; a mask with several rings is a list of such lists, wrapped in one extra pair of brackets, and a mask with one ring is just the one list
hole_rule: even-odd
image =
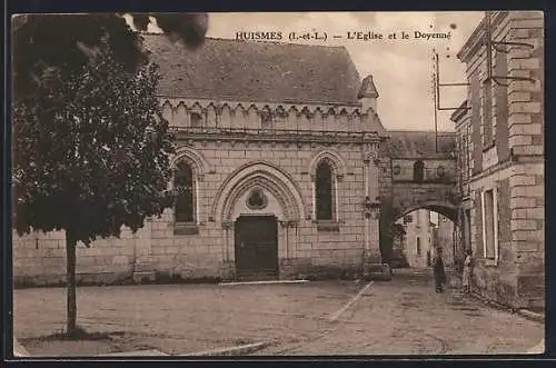
[(176, 222), (193, 222), (195, 180), (193, 170), (187, 162), (180, 161), (177, 165), (173, 187), (177, 190), (175, 205)]

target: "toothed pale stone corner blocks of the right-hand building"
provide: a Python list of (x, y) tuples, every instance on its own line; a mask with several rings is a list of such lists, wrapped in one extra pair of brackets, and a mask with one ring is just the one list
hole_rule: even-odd
[(533, 46), (510, 49), (510, 77), (529, 77), (508, 87), (509, 147), (518, 163), (509, 178), (513, 245), (523, 304), (544, 306), (545, 176), (544, 176), (544, 18), (520, 12), (512, 18), (513, 39)]

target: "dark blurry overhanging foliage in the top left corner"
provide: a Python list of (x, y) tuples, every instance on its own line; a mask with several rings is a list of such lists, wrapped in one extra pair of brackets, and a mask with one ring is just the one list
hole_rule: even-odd
[[(16, 99), (36, 92), (44, 74), (56, 69), (61, 77), (78, 72), (106, 42), (113, 59), (128, 72), (147, 62), (141, 38), (123, 14), (24, 14), (12, 19), (13, 86)], [(170, 37), (198, 47), (207, 31), (205, 13), (133, 14), (137, 29), (146, 30), (149, 17)]]

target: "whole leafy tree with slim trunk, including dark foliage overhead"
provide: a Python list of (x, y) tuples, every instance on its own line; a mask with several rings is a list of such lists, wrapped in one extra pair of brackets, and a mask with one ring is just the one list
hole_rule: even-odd
[[(145, 17), (136, 18), (139, 29)], [(206, 31), (202, 14), (157, 19), (189, 44)], [(27, 16), (12, 24), (14, 227), (19, 235), (66, 230), (66, 332), (73, 336), (77, 243), (118, 237), (122, 226), (135, 232), (170, 206), (172, 139), (156, 97), (157, 66), (119, 14)]]

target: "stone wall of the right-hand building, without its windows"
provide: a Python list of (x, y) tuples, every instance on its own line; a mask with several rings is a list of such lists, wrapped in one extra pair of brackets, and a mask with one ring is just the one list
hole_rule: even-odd
[[(506, 52), (493, 51), (493, 93), (474, 88), (487, 78), (486, 52), (478, 39), (468, 41), (460, 58), (471, 82), (469, 101), (474, 176), (461, 185), (471, 189), (471, 248), (477, 259), (475, 286), (485, 296), (515, 307), (544, 305), (544, 19), (542, 12), (495, 12), (493, 39), (522, 42)], [(520, 79), (512, 79), (520, 78)], [(487, 84), (485, 84), (487, 86)], [(475, 86), (476, 87), (476, 86)], [(492, 98), (489, 103), (485, 99)], [(478, 100), (479, 99), (479, 100)], [(492, 111), (485, 110), (490, 106)], [(492, 118), (492, 120), (490, 120)], [(485, 123), (492, 121), (493, 141), (485, 141)], [(480, 127), (480, 131), (477, 130)], [(490, 128), (489, 128), (490, 129)], [(479, 135), (480, 132), (480, 135)], [(483, 258), (480, 196), (497, 193), (497, 259)]]

